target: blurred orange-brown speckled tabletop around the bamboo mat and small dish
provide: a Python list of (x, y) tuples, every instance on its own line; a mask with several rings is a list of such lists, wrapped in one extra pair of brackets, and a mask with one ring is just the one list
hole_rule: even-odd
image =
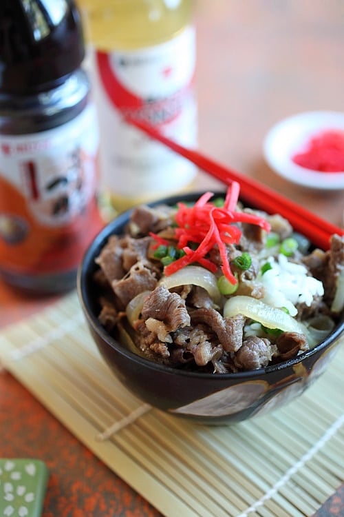
[[(281, 179), (264, 162), (262, 143), (286, 116), (343, 111), (344, 3), (199, 0), (195, 18), (200, 149), (342, 225), (344, 190), (316, 192)], [(197, 180), (200, 188), (217, 186), (204, 174)], [(0, 326), (55, 299), (25, 298), (0, 283)], [(6, 372), (0, 429), (1, 457), (41, 458), (50, 468), (43, 517), (160, 515)], [(343, 487), (316, 514), (332, 515), (344, 515)]]

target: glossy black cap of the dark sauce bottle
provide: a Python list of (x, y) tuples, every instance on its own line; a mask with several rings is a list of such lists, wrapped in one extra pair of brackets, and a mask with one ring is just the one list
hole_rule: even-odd
[(54, 88), (84, 56), (80, 13), (72, 0), (0, 1), (0, 92)]

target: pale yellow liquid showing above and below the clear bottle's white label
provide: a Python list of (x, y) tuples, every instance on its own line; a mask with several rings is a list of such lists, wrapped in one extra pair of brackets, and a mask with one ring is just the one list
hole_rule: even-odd
[[(78, 0), (85, 21), (85, 36), (96, 50), (103, 52), (150, 48), (169, 41), (190, 26), (194, 0)], [(127, 208), (189, 190), (192, 183), (178, 190), (142, 192), (132, 196), (105, 189), (100, 207), (105, 219)]]

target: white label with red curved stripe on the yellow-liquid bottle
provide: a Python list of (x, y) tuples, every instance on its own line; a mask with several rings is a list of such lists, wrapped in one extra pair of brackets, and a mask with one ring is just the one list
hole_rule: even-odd
[(140, 199), (191, 182), (195, 167), (123, 120), (155, 125), (189, 147), (197, 140), (195, 30), (153, 47), (96, 52), (94, 83), (100, 120), (103, 186)]

